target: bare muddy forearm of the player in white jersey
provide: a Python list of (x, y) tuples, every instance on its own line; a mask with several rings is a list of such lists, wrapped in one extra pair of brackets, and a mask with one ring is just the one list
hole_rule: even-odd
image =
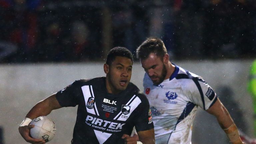
[(219, 99), (206, 111), (217, 118), (220, 127), (227, 134), (232, 144), (243, 144), (234, 121)]

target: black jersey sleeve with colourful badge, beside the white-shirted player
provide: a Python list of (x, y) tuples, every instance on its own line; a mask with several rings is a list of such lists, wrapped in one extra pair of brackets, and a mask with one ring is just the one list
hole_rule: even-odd
[(142, 99), (140, 105), (136, 108), (136, 115), (134, 117), (136, 131), (145, 131), (154, 128), (152, 121), (151, 110), (146, 96)]

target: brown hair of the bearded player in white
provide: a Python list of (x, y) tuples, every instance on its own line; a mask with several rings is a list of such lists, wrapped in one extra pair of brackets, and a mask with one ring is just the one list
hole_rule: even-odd
[(136, 50), (138, 59), (148, 58), (150, 53), (155, 53), (157, 56), (164, 57), (167, 50), (164, 42), (159, 38), (147, 38)]

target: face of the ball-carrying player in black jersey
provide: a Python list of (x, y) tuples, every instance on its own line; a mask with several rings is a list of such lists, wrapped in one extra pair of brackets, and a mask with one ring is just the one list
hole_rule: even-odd
[[(105, 70), (107, 68), (107, 71)], [(107, 89), (109, 93), (119, 93), (125, 90), (132, 76), (132, 60), (117, 56), (111, 65), (104, 65), (107, 73)]]

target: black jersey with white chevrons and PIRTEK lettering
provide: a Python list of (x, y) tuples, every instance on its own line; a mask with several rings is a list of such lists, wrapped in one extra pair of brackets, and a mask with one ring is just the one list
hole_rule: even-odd
[(133, 84), (119, 94), (107, 93), (106, 78), (78, 80), (57, 92), (63, 107), (78, 105), (72, 144), (122, 144), (123, 134), (154, 128), (149, 102)]

